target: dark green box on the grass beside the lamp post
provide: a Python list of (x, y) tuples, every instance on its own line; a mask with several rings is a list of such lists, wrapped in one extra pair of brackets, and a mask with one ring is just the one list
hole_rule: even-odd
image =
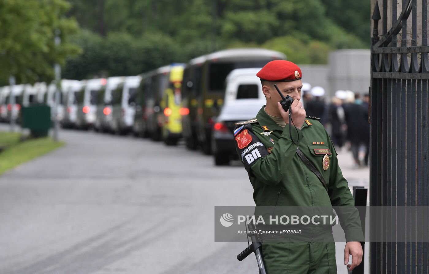
[(51, 107), (47, 105), (27, 106), (21, 109), (22, 128), (30, 129), (31, 136), (45, 137), (52, 127)]

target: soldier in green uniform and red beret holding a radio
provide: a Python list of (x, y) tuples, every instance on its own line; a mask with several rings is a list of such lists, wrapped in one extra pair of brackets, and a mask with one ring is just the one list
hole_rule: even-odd
[[(299, 102), (302, 72), (292, 62), (275, 60), (257, 76), (266, 105), (256, 118), (237, 123), (234, 130), (237, 153), (248, 171), (256, 206), (349, 206), (353, 214), (338, 215), (346, 236), (344, 265), (351, 255), (352, 263), (347, 267), (352, 270), (362, 261), (361, 242), (365, 241), (359, 214), (328, 133), (318, 118), (305, 115)], [(284, 96), (294, 99), (292, 125), (274, 84)], [(311, 171), (298, 152), (316, 171)], [(331, 229), (314, 230), (308, 242), (263, 242), (262, 252), (268, 274), (337, 273)]]

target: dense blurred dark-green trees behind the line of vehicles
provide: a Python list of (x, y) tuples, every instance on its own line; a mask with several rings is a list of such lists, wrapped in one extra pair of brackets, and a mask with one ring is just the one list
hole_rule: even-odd
[(66, 71), (77, 79), (133, 75), (227, 47), (265, 47), (300, 64), (324, 64), (330, 50), (368, 47), (360, 33), (368, 1), (69, 0), (69, 16), (88, 32), (74, 36), (84, 53)]

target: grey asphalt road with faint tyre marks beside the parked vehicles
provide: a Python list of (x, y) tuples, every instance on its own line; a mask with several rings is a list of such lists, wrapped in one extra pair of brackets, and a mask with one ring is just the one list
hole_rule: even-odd
[[(0, 274), (257, 273), (236, 259), (247, 243), (214, 242), (214, 206), (254, 205), (239, 163), (131, 136), (60, 138), (0, 176)], [(339, 157), (350, 187), (368, 186), (369, 170)]]

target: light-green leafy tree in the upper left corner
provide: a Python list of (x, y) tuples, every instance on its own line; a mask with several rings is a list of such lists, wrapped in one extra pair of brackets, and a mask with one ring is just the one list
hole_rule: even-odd
[[(64, 15), (69, 9), (64, 0), (0, 0), (0, 80), (9, 76), (17, 82), (49, 81), (54, 77), (55, 62), (79, 53), (69, 43), (69, 35), (78, 29), (77, 22)], [(55, 30), (62, 43), (54, 44)]]

